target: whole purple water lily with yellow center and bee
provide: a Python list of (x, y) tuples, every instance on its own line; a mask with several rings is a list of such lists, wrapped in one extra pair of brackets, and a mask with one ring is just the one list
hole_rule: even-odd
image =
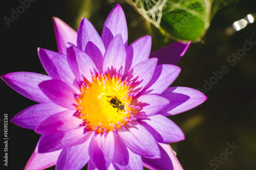
[(39, 103), (11, 120), (41, 134), (25, 169), (55, 164), (56, 169), (81, 169), (87, 163), (88, 169), (100, 170), (182, 169), (168, 143), (183, 140), (184, 134), (166, 116), (206, 100), (198, 90), (169, 87), (180, 73), (172, 64), (188, 45), (177, 42), (150, 54), (152, 40), (144, 36), (128, 46), (120, 5), (106, 18), (101, 37), (86, 18), (77, 33), (53, 20), (59, 53), (38, 48), (49, 76), (2, 76)]

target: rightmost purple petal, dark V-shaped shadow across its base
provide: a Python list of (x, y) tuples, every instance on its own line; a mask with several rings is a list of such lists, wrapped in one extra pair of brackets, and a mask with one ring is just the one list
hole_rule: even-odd
[(170, 101), (170, 104), (160, 112), (165, 116), (193, 109), (207, 99), (204, 93), (189, 87), (169, 87), (161, 96)]

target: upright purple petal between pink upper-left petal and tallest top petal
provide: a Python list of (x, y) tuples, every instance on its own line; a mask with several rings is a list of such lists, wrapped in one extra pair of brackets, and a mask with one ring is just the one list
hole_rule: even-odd
[(95, 30), (92, 23), (88, 19), (82, 18), (77, 31), (77, 47), (82, 51), (85, 51), (88, 42), (95, 44), (99, 48), (102, 56), (104, 55), (105, 46), (98, 32)]

